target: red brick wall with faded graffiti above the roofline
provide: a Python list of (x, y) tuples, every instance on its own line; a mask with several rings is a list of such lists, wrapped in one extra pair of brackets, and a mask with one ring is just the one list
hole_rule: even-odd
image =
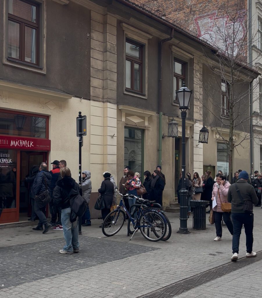
[[(187, 29), (197, 33), (208, 40), (211, 44), (225, 48), (222, 43), (219, 28), (224, 29), (226, 34), (233, 29), (230, 15), (239, 15), (239, 24), (235, 30), (239, 32), (237, 46), (245, 39), (247, 32), (247, 1), (245, 0), (139, 0), (151, 9), (173, 19)], [(224, 34), (224, 36), (226, 35)], [(239, 41), (239, 43), (238, 43)], [(238, 49), (236, 49), (237, 51)], [(244, 54), (246, 56), (246, 54)]]

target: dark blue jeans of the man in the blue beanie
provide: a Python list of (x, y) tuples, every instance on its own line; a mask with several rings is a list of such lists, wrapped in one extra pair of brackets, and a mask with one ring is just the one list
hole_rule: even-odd
[(254, 214), (251, 213), (231, 213), (233, 221), (233, 239), (232, 239), (232, 250), (233, 253), (239, 252), (239, 239), (241, 229), (244, 224), (246, 234), (246, 246), (247, 252), (251, 253), (253, 248), (253, 226), (254, 226)]

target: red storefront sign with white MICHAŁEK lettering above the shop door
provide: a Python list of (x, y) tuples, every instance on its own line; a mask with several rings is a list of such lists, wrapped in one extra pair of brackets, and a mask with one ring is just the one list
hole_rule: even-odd
[(0, 148), (50, 151), (51, 140), (0, 135)]

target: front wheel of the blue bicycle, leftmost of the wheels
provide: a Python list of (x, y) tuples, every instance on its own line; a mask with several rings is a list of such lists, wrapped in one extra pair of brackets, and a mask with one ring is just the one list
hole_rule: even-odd
[(125, 221), (125, 213), (116, 209), (110, 212), (102, 224), (102, 232), (104, 235), (110, 237), (120, 231)]

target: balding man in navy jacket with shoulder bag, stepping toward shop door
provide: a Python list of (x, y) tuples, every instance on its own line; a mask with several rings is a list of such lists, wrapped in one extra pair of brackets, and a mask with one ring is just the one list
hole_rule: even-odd
[[(47, 164), (45, 162), (42, 162), (40, 164), (39, 173), (37, 173), (34, 184), (32, 187), (33, 193), (35, 196), (39, 195), (40, 193), (43, 193), (46, 190), (46, 185), (48, 191), (50, 191), (50, 184), (51, 184), (51, 174), (47, 170)], [(45, 215), (46, 210), (46, 204), (35, 200), (34, 202), (34, 211), (39, 217), (39, 223), (37, 227), (33, 228), (33, 230), (43, 230), (43, 225), (45, 225), (45, 230), (43, 231), (43, 234), (48, 232), (48, 230), (51, 228), (51, 224), (48, 223)]]

